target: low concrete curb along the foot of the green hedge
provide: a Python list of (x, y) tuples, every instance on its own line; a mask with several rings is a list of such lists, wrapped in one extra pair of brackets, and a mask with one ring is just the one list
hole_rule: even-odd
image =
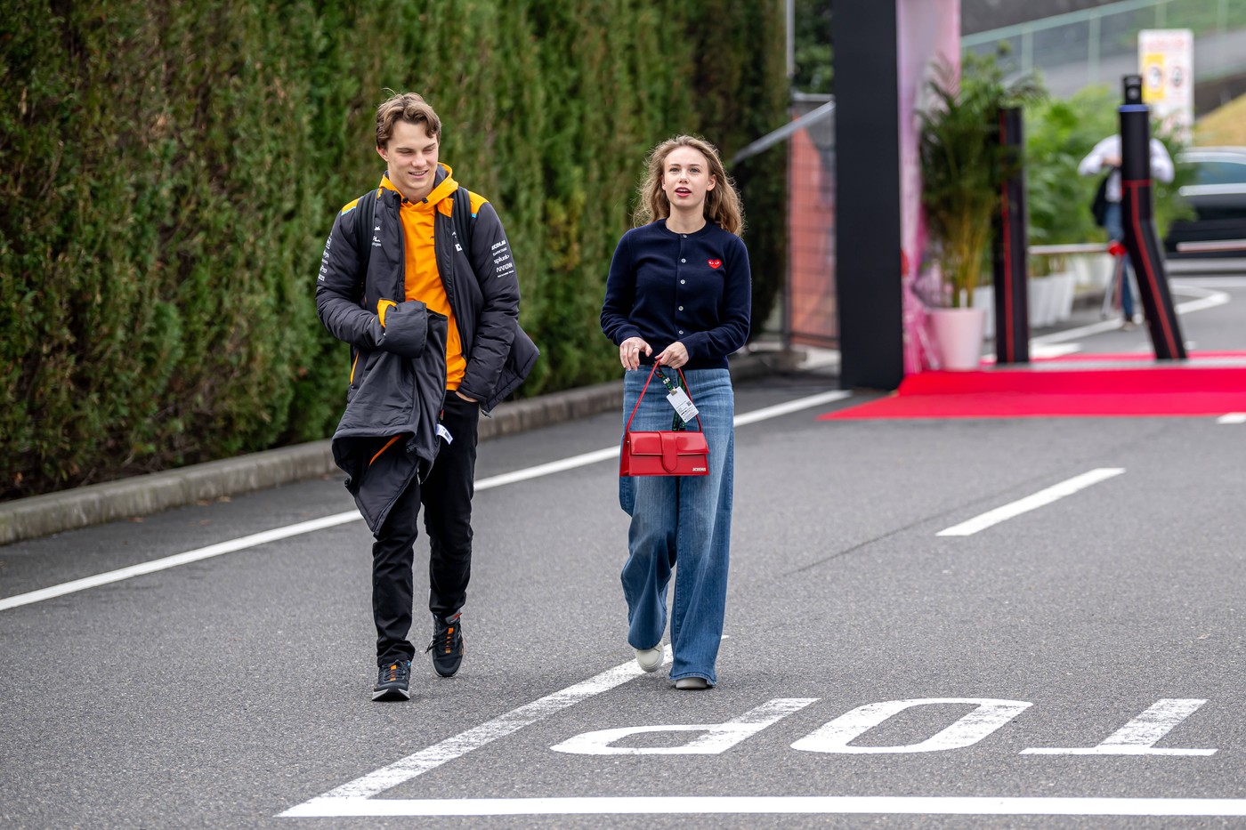
[[(735, 380), (769, 371), (765, 358), (740, 354), (731, 359)], [(500, 404), (492, 417), (481, 419), (480, 440), (589, 417), (621, 406), (622, 380), (510, 401)], [(340, 474), (329, 441), (313, 441), (19, 498), (0, 503), (0, 545)]]

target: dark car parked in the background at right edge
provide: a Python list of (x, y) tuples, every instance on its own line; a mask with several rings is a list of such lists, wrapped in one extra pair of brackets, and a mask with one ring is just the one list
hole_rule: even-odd
[(1246, 147), (1191, 147), (1176, 158), (1192, 167), (1180, 193), (1196, 216), (1174, 222), (1164, 247), (1170, 257), (1246, 257), (1246, 250), (1177, 253), (1180, 242), (1246, 239)]

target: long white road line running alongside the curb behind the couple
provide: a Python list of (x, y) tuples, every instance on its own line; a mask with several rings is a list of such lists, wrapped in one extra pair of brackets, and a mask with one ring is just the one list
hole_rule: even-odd
[[(830, 391), (830, 393), (821, 393), (819, 395), (809, 395), (807, 398), (799, 398), (796, 400), (787, 401), (786, 404), (779, 404), (776, 406), (766, 406), (764, 409), (759, 409), (751, 413), (745, 413), (744, 415), (736, 415), (735, 425), (743, 426), (745, 424), (755, 424), (758, 421), (769, 420), (771, 417), (779, 417), (781, 415), (797, 413), (804, 409), (812, 409), (814, 406), (821, 406), (822, 404), (842, 400), (845, 398), (851, 396), (851, 394), (852, 393), (850, 391)], [(618, 446), (608, 446), (602, 450), (584, 452), (582, 455), (576, 455), (569, 459), (561, 459), (558, 461), (551, 461), (548, 464), (538, 464), (533, 467), (527, 467), (525, 470), (516, 470), (513, 472), (503, 472), (501, 475), (481, 479), (480, 481), (476, 482), (476, 490), (477, 491), (490, 490), (492, 487), (501, 487), (508, 484), (527, 481), (530, 479), (538, 479), (541, 476), (548, 476), (556, 472), (563, 472), (566, 470), (574, 470), (576, 467), (583, 467), (589, 464), (598, 464), (601, 461), (617, 459), (618, 455), (619, 455)], [(29, 606), (34, 602), (42, 602), (44, 599), (51, 599), (52, 597), (62, 597), (67, 593), (86, 591), (87, 588), (93, 588), (101, 584), (108, 584), (110, 582), (121, 582), (122, 580), (130, 580), (132, 577), (143, 576), (146, 573), (155, 573), (156, 571), (166, 571), (168, 568), (177, 567), (178, 565), (187, 565), (188, 562), (199, 562), (202, 560), (208, 560), (214, 556), (221, 556), (223, 553), (233, 553), (235, 551), (242, 551), (248, 547), (255, 547), (258, 545), (264, 545), (267, 542), (275, 542), (278, 540), (289, 538), (290, 536), (299, 536), (302, 533), (310, 533), (318, 530), (325, 530), (326, 527), (345, 525), (346, 522), (360, 521), (361, 518), (363, 516), (359, 515), (359, 511), (350, 510), (344, 513), (335, 513), (333, 516), (323, 516), (320, 518), (314, 518), (312, 521), (299, 522), (298, 525), (277, 527), (274, 530), (264, 531), (262, 533), (252, 533), (250, 536), (243, 536), (240, 538), (229, 540), (227, 542), (218, 542), (216, 545), (209, 545), (208, 547), (201, 547), (194, 551), (186, 551), (184, 553), (174, 553), (173, 556), (167, 556), (161, 560), (153, 560), (151, 562), (142, 562), (140, 565), (132, 565), (130, 567), (118, 568), (117, 571), (108, 571), (107, 573), (97, 573), (96, 576), (85, 577), (82, 580), (74, 580), (72, 582), (62, 582), (61, 584), (56, 584), (50, 588), (40, 588), (39, 591), (31, 591), (29, 593), (19, 593), (14, 597), (5, 597), (0, 599), (0, 611), (16, 608), (19, 606)]]

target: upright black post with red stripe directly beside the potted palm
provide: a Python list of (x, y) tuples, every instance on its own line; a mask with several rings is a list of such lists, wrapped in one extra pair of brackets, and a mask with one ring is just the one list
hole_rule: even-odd
[(999, 186), (994, 223), (996, 363), (1029, 363), (1029, 299), (1025, 290), (1025, 168), (1020, 107), (999, 111), (999, 143), (1008, 168)]

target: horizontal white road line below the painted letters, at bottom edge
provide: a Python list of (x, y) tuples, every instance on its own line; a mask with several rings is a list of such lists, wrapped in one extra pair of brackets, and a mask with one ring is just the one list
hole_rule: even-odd
[(336, 799), (308, 801), (289, 818), (462, 815), (1108, 815), (1246, 816), (1246, 799), (1077, 799), (972, 796), (674, 796), (558, 799)]

